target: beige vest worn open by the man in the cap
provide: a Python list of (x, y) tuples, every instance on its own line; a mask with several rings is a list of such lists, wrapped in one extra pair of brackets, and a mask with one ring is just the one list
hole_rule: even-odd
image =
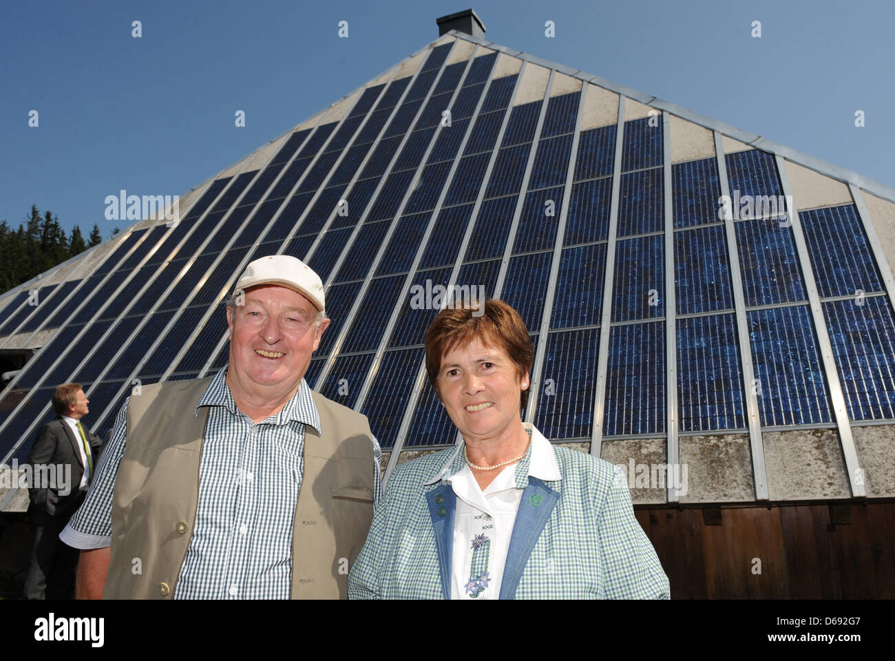
[[(211, 379), (142, 386), (127, 411), (115, 477), (112, 558), (103, 597), (171, 598), (199, 505), (208, 408), (193, 415)], [(373, 516), (373, 450), (366, 416), (311, 391), (319, 434), (305, 425), (304, 474), (295, 506), (291, 596), (346, 598), (347, 569)]]

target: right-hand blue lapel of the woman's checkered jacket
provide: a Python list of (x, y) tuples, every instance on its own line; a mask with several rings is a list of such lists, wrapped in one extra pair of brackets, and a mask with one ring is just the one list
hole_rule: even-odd
[(522, 579), (525, 565), (558, 500), (559, 493), (553, 491), (542, 480), (537, 477), (528, 478), (528, 485), (522, 492), (522, 501), (519, 502), (519, 511), (516, 512), (513, 536), (509, 540), (499, 598), (516, 597), (516, 588), (519, 586), (519, 579)]

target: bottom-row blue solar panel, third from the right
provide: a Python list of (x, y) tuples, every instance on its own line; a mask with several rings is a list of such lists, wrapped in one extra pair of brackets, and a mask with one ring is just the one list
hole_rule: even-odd
[(678, 319), (680, 431), (744, 428), (745, 399), (734, 315)]

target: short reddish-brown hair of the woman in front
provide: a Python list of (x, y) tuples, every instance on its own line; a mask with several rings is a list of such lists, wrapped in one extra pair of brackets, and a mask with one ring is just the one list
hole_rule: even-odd
[[(499, 298), (490, 298), (481, 311), (476, 307), (445, 308), (426, 330), (426, 372), (435, 394), (439, 393), (441, 359), (455, 347), (465, 347), (474, 339), (499, 347), (516, 365), (519, 376), (529, 373), (534, 362), (532, 340), (525, 322), (511, 305)], [(528, 391), (522, 392), (520, 408), (528, 403)]]

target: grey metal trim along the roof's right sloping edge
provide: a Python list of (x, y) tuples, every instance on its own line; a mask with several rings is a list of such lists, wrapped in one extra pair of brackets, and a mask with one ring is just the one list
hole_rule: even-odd
[[(466, 39), (467, 41), (472, 41), (473, 43), (479, 44), (480, 46), (487, 46), (492, 50), (497, 50), (501, 53), (506, 54), (507, 56), (518, 57), (520, 55), (526, 55), (528, 61), (532, 64), (539, 64), (540, 66), (544, 66), (550, 69), (556, 69), (558, 72), (561, 73), (572, 71), (565, 64), (557, 64), (542, 57), (523, 54), (521, 51), (516, 51), (513, 48), (501, 46), (500, 44), (496, 44), (493, 41), (478, 39), (476, 37), (473, 37), (472, 35), (465, 34), (464, 32), (451, 30), (450, 32), (447, 32), (447, 34), (454, 34), (456, 35), (457, 39)], [(792, 161), (793, 163), (797, 163), (798, 165), (805, 166), (808, 169), (812, 169), (815, 172), (818, 172), (819, 174), (830, 176), (833, 179), (838, 179), (842, 182), (855, 184), (859, 188), (864, 189), (867, 193), (873, 193), (874, 195), (878, 195), (879, 197), (882, 197), (889, 202), (895, 202), (895, 187), (882, 184), (881, 182), (878, 182), (869, 176), (860, 175), (854, 170), (849, 170), (846, 167), (833, 165), (832, 163), (828, 163), (823, 159), (817, 159), (814, 156), (809, 156), (802, 151), (791, 149), (777, 142), (772, 142), (761, 135), (743, 131), (742, 129), (738, 129), (736, 126), (727, 124), (726, 122), (722, 122), (719, 119), (700, 115), (699, 113), (693, 112), (692, 110), (687, 110), (686, 108), (680, 107), (677, 104), (671, 103), (670, 101), (659, 99), (658, 97), (652, 96), (650, 94), (644, 94), (642, 91), (635, 90), (633, 88), (627, 87), (626, 85), (620, 85), (617, 82), (608, 81), (598, 75), (586, 73), (581, 70), (576, 70), (575, 73), (567, 74), (573, 76), (574, 78), (580, 78), (585, 82), (592, 82), (594, 85), (599, 85), (600, 87), (605, 88), (609, 91), (613, 91), (617, 94), (622, 94), (628, 99), (634, 99), (635, 101), (639, 101), (644, 105), (655, 107), (660, 110), (667, 110), (672, 115), (677, 115), (682, 119), (686, 119), (686, 121), (688, 122), (698, 124), (700, 126), (703, 126), (703, 128), (707, 128), (712, 131), (717, 131), (722, 135), (727, 135), (730, 138), (734, 138), (740, 142), (746, 142), (746, 144), (751, 145), (757, 149), (770, 151), (772, 154), (780, 154), (780, 156), (782, 156), (784, 159)]]

